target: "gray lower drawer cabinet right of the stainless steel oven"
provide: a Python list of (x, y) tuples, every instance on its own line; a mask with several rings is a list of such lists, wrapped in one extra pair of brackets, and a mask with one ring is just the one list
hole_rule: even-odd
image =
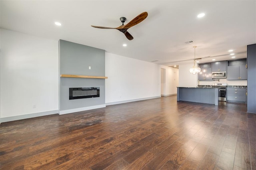
[(227, 88), (227, 101), (246, 103), (246, 89)]

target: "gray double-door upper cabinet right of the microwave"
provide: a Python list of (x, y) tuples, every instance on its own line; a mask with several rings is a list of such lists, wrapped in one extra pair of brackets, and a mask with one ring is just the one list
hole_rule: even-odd
[(227, 80), (246, 80), (246, 59), (228, 61)]

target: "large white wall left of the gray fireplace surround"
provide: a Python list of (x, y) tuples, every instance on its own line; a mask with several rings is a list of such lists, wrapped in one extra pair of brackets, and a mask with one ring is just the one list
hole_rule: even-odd
[(58, 41), (5, 29), (0, 34), (1, 120), (58, 110)]

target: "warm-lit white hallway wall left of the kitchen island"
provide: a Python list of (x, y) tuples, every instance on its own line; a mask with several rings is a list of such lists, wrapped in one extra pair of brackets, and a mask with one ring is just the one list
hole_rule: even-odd
[(167, 67), (164, 65), (160, 65), (161, 70), (165, 69), (165, 85), (162, 85), (161, 82), (161, 89), (163, 89), (161, 95), (169, 96), (169, 95), (176, 95), (177, 94), (177, 87), (179, 85), (179, 69), (175, 69), (172, 67)]

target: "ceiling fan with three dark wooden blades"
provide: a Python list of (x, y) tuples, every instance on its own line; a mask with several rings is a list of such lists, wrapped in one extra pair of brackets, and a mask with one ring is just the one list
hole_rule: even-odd
[(104, 29), (116, 29), (119, 30), (120, 32), (124, 33), (124, 35), (126, 36), (126, 38), (128, 38), (128, 40), (132, 40), (133, 37), (132, 35), (127, 32), (127, 30), (129, 28), (131, 28), (132, 26), (135, 26), (137, 24), (139, 24), (140, 22), (142, 22), (143, 20), (145, 20), (148, 16), (148, 12), (142, 12), (141, 14), (139, 14), (138, 16), (136, 16), (133, 20), (131, 20), (128, 24), (124, 25), (124, 22), (126, 21), (125, 17), (121, 17), (120, 21), (122, 22), (122, 26), (116, 27), (116, 28), (110, 28), (110, 27), (101, 27), (101, 26), (92, 26), (95, 28), (104, 28)]

